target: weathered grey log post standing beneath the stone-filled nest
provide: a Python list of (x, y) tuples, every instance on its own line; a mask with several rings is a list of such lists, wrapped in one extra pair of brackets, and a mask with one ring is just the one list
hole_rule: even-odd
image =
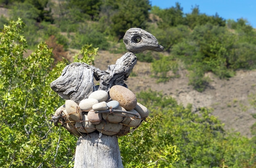
[(117, 136), (92, 132), (76, 143), (74, 168), (123, 168)]

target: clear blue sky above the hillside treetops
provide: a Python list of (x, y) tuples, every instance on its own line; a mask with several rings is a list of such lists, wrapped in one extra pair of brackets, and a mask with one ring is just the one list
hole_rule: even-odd
[(209, 16), (218, 15), (224, 19), (237, 20), (246, 19), (249, 24), (256, 28), (256, 0), (149, 0), (152, 6), (161, 9), (175, 7), (179, 2), (183, 8), (183, 13), (191, 13), (192, 6), (199, 5), (200, 13)]

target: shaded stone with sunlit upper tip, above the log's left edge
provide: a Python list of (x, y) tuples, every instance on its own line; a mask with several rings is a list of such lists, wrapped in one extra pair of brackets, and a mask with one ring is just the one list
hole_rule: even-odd
[(96, 129), (95, 125), (88, 120), (88, 116), (83, 114), (83, 120), (76, 121), (76, 130), (83, 133), (90, 133), (94, 132)]

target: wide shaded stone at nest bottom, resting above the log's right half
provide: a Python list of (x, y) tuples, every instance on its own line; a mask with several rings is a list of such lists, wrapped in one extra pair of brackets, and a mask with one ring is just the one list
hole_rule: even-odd
[(115, 135), (122, 129), (123, 125), (119, 123), (109, 123), (101, 121), (98, 125), (95, 125), (97, 131), (105, 135)]

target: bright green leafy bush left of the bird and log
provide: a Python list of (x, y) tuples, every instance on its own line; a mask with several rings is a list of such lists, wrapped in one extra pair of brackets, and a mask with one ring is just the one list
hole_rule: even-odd
[[(24, 26), (20, 19), (11, 21), (0, 33), (0, 167), (73, 167), (76, 138), (49, 122), (64, 104), (49, 84), (67, 61), (53, 67), (45, 43), (23, 58)], [(81, 53), (89, 55), (85, 48)]]

